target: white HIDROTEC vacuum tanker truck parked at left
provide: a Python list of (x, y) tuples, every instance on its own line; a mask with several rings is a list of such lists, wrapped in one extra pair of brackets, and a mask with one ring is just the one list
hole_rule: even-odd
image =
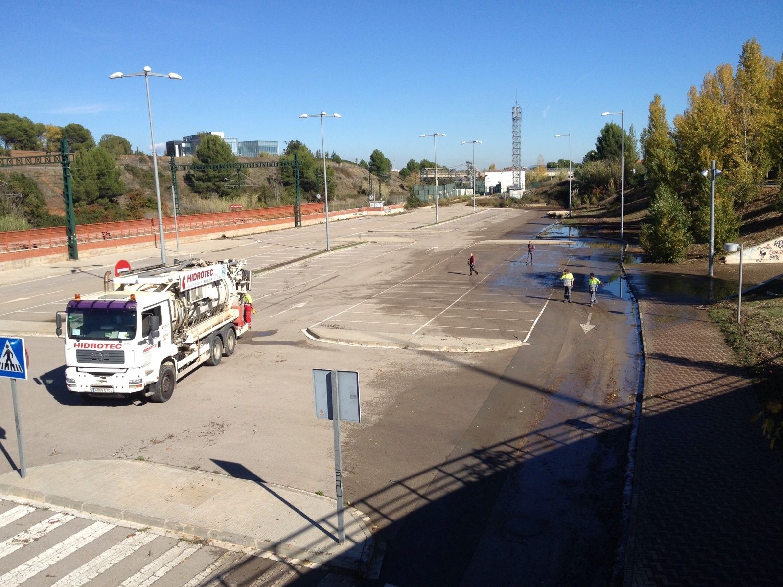
[(202, 363), (218, 365), (250, 328), (244, 264), (190, 260), (139, 269), (115, 278), (113, 291), (76, 294), (56, 314), (67, 389), (92, 398), (143, 392), (166, 402), (180, 377)]

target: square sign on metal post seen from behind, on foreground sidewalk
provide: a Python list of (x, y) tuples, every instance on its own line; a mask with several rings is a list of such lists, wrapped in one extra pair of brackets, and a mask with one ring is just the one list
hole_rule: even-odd
[(342, 494), (342, 454), (340, 450), (340, 420), (361, 422), (359, 408), (359, 373), (334, 369), (312, 369), (316, 418), (334, 423), (334, 481), (337, 498), (337, 542), (345, 542)]

